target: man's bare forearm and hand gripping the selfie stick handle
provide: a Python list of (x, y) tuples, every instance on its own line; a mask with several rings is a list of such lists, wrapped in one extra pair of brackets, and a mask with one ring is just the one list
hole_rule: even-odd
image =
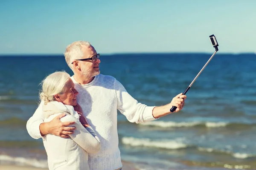
[(152, 113), (153, 117), (157, 119), (170, 114), (170, 109), (172, 108), (172, 106), (177, 107), (174, 112), (180, 111), (185, 105), (185, 99), (186, 95), (183, 95), (182, 93), (178, 94), (172, 99), (172, 102), (170, 102), (169, 104), (155, 107)]

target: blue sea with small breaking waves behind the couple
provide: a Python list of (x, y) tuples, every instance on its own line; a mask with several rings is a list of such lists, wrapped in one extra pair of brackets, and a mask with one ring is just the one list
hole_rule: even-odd
[[(148, 106), (182, 93), (211, 53), (101, 54), (111, 75)], [(38, 107), (39, 83), (73, 72), (63, 55), (0, 56), (0, 164), (47, 167), (42, 139), (26, 122)], [(216, 53), (186, 93), (182, 111), (145, 124), (118, 113), (122, 160), (140, 170), (256, 170), (256, 54)]]

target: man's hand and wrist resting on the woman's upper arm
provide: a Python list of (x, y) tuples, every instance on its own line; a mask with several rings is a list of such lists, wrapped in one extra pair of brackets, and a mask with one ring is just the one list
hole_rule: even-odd
[(47, 123), (41, 123), (39, 126), (40, 133), (42, 136), (51, 133), (55, 136), (60, 136), (62, 138), (69, 138), (70, 134), (73, 134), (73, 130), (76, 127), (68, 127), (69, 125), (73, 125), (75, 122), (61, 122), (61, 118), (66, 116), (66, 114), (60, 114), (56, 116), (52, 121)]

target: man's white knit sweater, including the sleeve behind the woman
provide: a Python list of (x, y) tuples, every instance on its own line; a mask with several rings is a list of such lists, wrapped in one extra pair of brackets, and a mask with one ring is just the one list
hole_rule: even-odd
[[(90, 170), (115, 170), (122, 167), (117, 134), (117, 109), (126, 116), (129, 122), (148, 122), (154, 120), (152, 110), (138, 103), (127, 93), (123, 85), (111, 76), (99, 74), (86, 85), (75, 83), (79, 92), (77, 101), (84, 116), (92, 126), (101, 142), (101, 150), (96, 154), (89, 154)], [(41, 111), (38, 109), (27, 122), (30, 136), (38, 139), (41, 136), (39, 125), (43, 122)]]

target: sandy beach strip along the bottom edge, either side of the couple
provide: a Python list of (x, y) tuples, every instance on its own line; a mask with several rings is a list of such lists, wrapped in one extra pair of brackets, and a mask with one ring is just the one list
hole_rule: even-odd
[[(122, 161), (122, 170), (139, 170), (134, 164)], [(0, 170), (48, 170), (47, 168), (40, 167), (27, 167), (27, 166), (17, 166), (17, 165), (0, 165)]]

